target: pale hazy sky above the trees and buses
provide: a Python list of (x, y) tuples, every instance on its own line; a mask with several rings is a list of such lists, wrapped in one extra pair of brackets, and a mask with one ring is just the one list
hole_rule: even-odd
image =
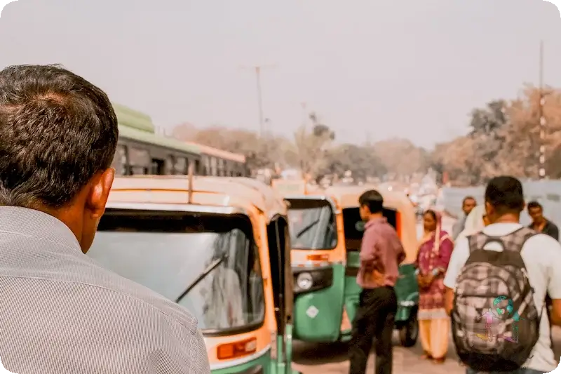
[(62, 63), (158, 126), (269, 128), (302, 102), (342, 142), (430, 147), (468, 113), (538, 81), (561, 86), (558, 0), (1, 0), (0, 67)]

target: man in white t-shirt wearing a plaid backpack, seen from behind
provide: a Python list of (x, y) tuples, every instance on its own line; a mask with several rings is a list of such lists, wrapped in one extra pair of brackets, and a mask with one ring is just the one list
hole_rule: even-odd
[(490, 225), (456, 243), (444, 279), (452, 337), (467, 373), (555, 370), (551, 319), (561, 325), (561, 246), (520, 225), (522, 184), (501, 176), (485, 189)]

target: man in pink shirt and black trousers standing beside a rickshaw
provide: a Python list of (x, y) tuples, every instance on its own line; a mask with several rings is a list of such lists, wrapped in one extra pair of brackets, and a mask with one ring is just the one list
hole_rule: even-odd
[(393, 286), (405, 251), (396, 229), (384, 215), (384, 199), (375, 190), (358, 199), (360, 218), (365, 224), (360, 246), (360, 269), (356, 282), (363, 288), (349, 347), (350, 374), (364, 374), (372, 340), (376, 338), (376, 374), (390, 374), (393, 359), (391, 335), (398, 300)]

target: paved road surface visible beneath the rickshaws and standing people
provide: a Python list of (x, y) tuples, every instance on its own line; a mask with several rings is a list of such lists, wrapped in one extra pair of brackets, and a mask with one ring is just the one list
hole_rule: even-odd
[[(561, 328), (553, 330), (553, 344), (557, 362), (561, 359)], [(412, 348), (398, 346), (397, 334), (394, 337), (393, 348), (393, 373), (396, 374), (464, 374), (465, 368), (459, 364), (450, 340), (447, 361), (435, 364), (431, 361), (421, 360), (421, 343)], [(334, 343), (320, 345), (304, 342), (295, 342), (293, 368), (304, 374), (341, 374), (349, 372), (346, 346)], [(367, 373), (374, 373), (374, 355), (370, 356)]]

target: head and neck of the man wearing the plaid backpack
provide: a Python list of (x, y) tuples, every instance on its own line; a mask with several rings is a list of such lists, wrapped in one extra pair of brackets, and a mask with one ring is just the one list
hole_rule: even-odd
[(485, 211), (489, 222), (501, 219), (504, 222), (518, 222), (524, 210), (524, 192), (520, 180), (501, 176), (489, 181), (485, 189)]

